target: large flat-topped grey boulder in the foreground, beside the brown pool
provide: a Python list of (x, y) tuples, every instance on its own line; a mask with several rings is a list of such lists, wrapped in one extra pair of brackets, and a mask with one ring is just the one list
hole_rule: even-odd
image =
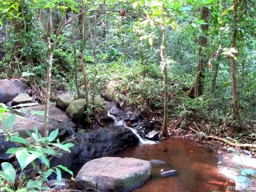
[(85, 163), (75, 182), (78, 189), (127, 192), (142, 186), (151, 173), (149, 161), (136, 158), (102, 157)]

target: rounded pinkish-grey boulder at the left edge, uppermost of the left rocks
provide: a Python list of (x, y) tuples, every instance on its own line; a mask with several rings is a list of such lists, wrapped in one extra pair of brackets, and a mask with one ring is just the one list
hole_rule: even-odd
[(0, 80), (0, 103), (12, 101), (19, 93), (29, 93), (23, 81)]

